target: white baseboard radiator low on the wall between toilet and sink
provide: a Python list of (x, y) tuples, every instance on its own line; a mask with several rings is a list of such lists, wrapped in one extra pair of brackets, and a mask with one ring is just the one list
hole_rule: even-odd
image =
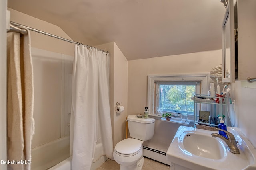
[(156, 148), (143, 146), (143, 156), (167, 165), (171, 165), (171, 162), (166, 160), (166, 152), (158, 150)]

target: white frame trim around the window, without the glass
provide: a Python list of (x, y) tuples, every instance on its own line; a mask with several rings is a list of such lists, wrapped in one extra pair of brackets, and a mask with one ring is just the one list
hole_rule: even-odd
[[(155, 111), (155, 93), (156, 93), (156, 86), (155, 82), (201, 82), (201, 94), (208, 93), (208, 80), (209, 74), (152, 74), (148, 75), (148, 98), (147, 104), (150, 115), (157, 116)], [(208, 110), (208, 108), (204, 108)]]

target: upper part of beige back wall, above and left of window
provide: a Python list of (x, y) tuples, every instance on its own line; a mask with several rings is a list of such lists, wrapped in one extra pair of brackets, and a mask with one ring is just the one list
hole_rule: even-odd
[(221, 63), (222, 50), (128, 61), (128, 113), (144, 113), (148, 74), (210, 73)]

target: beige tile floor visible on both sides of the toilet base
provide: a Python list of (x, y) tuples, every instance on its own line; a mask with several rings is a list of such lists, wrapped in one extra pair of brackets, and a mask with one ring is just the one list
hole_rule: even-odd
[[(119, 164), (111, 159), (108, 159), (96, 170), (119, 170)], [(144, 158), (142, 170), (170, 170), (170, 166), (150, 158)]]

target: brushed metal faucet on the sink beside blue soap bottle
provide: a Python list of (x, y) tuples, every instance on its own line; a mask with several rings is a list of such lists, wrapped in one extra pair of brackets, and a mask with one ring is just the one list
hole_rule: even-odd
[(223, 129), (220, 129), (220, 128), (217, 128), (219, 131), (224, 131), (227, 135), (228, 138), (225, 138), (224, 136), (218, 134), (218, 133), (212, 133), (212, 137), (219, 137), (220, 139), (222, 139), (223, 141), (226, 142), (226, 144), (228, 145), (228, 150), (231, 152), (231, 153), (234, 153), (234, 154), (240, 154), (239, 152), (239, 149), (238, 147), (236, 146), (236, 138), (234, 137), (234, 135), (228, 131), (225, 131)]

